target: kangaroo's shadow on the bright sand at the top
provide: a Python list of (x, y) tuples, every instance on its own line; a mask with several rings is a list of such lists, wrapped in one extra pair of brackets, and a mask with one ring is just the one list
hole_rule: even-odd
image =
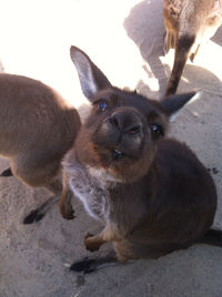
[(163, 41), (165, 32), (162, 18), (162, 0), (140, 2), (131, 9), (123, 25), (128, 35), (138, 45), (153, 75), (158, 79), (159, 93), (162, 94), (169, 74), (160, 60), (160, 57), (164, 55)]

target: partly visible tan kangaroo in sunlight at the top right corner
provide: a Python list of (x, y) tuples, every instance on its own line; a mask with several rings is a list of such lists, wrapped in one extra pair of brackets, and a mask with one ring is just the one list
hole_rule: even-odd
[(222, 24), (222, 0), (164, 0), (164, 52), (172, 48), (174, 63), (165, 96), (176, 92), (188, 59), (193, 62), (200, 44)]

